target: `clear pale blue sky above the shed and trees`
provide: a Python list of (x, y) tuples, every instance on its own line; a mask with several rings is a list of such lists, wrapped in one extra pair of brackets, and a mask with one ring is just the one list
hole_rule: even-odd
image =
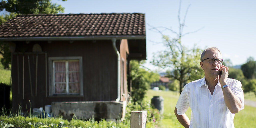
[[(65, 14), (69, 13), (145, 13), (146, 24), (152, 26), (164, 26), (174, 30), (178, 28), (177, 12), (179, 1), (86, 1), (68, 0), (66, 2), (53, 0), (53, 3), (61, 4), (65, 7)], [(183, 45), (191, 48), (196, 44), (202, 49), (206, 47), (217, 47), (222, 52), (224, 59), (230, 59), (233, 65), (240, 65), (246, 62), (249, 56), (256, 59), (256, 1), (238, 0), (183, 0), (181, 7), (181, 17), (183, 18), (187, 6), (191, 4), (184, 33), (202, 30), (194, 34), (186, 35), (182, 39)], [(146, 67), (157, 69), (149, 62), (152, 60), (152, 53), (163, 50), (160, 34), (149, 30), (146, 25), (147, 43), (147, 63)], [(174, 37), (175, 35), (164, 34)]]

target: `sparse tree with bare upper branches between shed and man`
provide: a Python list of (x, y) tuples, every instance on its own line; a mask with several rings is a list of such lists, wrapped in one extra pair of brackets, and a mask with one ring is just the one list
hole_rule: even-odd
[[(190, 5), (189, 5), (190, 6)], [(185, 26), (185, 20), (187, 16), (187, 12), (189, 9), (187, 7), (183, 22), (180, 20), (180, 7), (181, 1), (179, 4), (178, 10), (178, 22), (179, 22), (179, 29), (178, 32), (174, 31), (173, 29), (166, 28), (166, 27), (152, 27), (151, 30), (155, 30), (156, 32), (160, 33), (163, 37), (163, 44), (167, 47), (166, 50), (159, 51), (153, 56), (153, 60), (151, 63), (155, 66), (159, 66), (161, 68), (167, 69), (167, 77), (174, 78), (179, 81), (179, 91), (182, 92), (182, 88), (184, 83), (189, 80), (196, 80), (202, 78), (204, 76), (204, 71), (200, 67), (200, 55), (202, 50), (196, 46), (189, 49), (182, 44), (183, 36), (195, 33), (196, 31), (188, 32), (183, 34), (183, 29)], [(169, 30), (173, 34), (176, 35), (175, 38), (170, 38), (170, 36), (164, 35), (162, 30)]]

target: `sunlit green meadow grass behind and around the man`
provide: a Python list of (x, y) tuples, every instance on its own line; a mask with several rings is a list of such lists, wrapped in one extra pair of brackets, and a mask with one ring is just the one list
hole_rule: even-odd
[[(164, 118), (160, 123), (163, 128), (183, 128), (183, 126), (178, 122), (175, 114), (174, 108), (179, 98), (179, 93), (173, 91), (154, 91), (148, 90), (146, 93), (146, 99), (151, 100), (153, 96), (161, 95), (164, 98)], [(255, 97), (255, 96), (254, 96)], [(189, 108), (186, 115), (190, 119), (191, 109)], [(245, 106), (244, 109), (237, 114), (234, 118), (234, 126), (236, 128), (243, 127), (255, 127), (256, 122), (256, 108), (251, 106)]]

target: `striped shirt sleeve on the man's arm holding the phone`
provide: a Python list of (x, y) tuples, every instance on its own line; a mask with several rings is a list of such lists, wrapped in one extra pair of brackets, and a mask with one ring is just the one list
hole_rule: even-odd
[(242, 107), (240, 108), (240, 110), (244, 109), (244, 96), (243, 96), (243, 89), (242, 89), (242, 83), (240, 81), (236, 81), (234, 82), (234, 85), (231, 88), (231, 91), (234, 93), (234, 95), (236, 95), (241, 103), (242, 103)]

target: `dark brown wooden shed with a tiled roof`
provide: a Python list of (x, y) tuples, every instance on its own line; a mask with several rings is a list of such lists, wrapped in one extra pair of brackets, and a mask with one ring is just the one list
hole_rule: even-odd
[(55, 115), (116, 119), (129, 98), (129, 61), (146, 59), (145, 14), (17, 15), (1, 24), (0, 41), (12, 51), (14, 111), (30, 100)]

